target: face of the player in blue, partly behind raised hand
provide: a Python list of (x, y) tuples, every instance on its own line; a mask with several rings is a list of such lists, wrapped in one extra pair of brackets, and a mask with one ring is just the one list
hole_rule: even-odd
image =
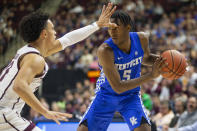
[(108, 28), (108, 33), (115, 44), (120, 44), (125, 40), (125, 36), (128, 35), (129, 29), (127, 26), (123, 25), (119, 19), (115, 20), (114, 18), (111, 18), (110, 21), (116, 23), (117, 27)]

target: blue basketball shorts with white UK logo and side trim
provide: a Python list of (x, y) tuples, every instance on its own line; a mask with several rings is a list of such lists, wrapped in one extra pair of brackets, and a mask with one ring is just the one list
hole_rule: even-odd
[(84, 124), (88, 131), (106, 131), (116, 111), (120, 112), (131, 131), (144, 121), (151, 125), (139, 92), (126, 96), (98, 93), (79, 125)]

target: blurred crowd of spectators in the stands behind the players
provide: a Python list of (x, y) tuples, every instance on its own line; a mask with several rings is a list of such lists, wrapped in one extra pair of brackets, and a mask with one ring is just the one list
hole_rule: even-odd
[[(46, 0), (0, 1), (0, 54), (16, 44), (20, 19), (40, 8)], [(192, 125), (197, 121), (197, 2), (194, 0), (116, 0), (118, 9), (128, 12), (135, 21), (134, 31), (149, 32), (152, 53), (176, 49), (185, 55), (188, 71), (178, 80), (162, 77), (142, 85), (142, 100), (157, 130)], [(97, 20), (106, 0), (62, 0), (51, 16), (57, 37)], [(51, 70), (97, 71), (97, 48), (109, 37), (101, 29), (86, 40), (47, 58)], [(151, 68), (142, 67), (142, 74)], [(77, 74), (76, 74), (77, 75)], [(75, 78), (73, 78), (75, 79)], [(65, 79), (66, 81), (66, 79)], [(94, 96), (96, 78), (88, 76), (63, 90), (55, 101), (39, 95), (41, 102), (54, 111), (74, 114), (80, 120)], [(56, 88), (56, 87), (54, 87)], [(25, 117), (34, 122), (44, 120), (32, 109)], [(120, 118), (116, 113), (115, 118)]]

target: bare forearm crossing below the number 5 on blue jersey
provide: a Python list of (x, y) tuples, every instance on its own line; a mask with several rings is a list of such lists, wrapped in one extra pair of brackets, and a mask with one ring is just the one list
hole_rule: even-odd
[(121, 81), (119, 83), (119, 86), (117, 86), (117, 91), (118, 93), (123, 93), (125, 91), (134, 89), (150, 80), (153, 79), (153, 76), (151, 73), (147, 73), (139, 78), (136, 79), (131, 79), (131, 80), (127, 80), (127, 81)]

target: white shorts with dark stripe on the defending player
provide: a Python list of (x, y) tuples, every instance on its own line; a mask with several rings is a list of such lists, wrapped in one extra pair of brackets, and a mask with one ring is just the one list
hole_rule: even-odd
[(17, 112), (3, 108), (0, 109), (0, 131), (41, 131), (41, 129)]

